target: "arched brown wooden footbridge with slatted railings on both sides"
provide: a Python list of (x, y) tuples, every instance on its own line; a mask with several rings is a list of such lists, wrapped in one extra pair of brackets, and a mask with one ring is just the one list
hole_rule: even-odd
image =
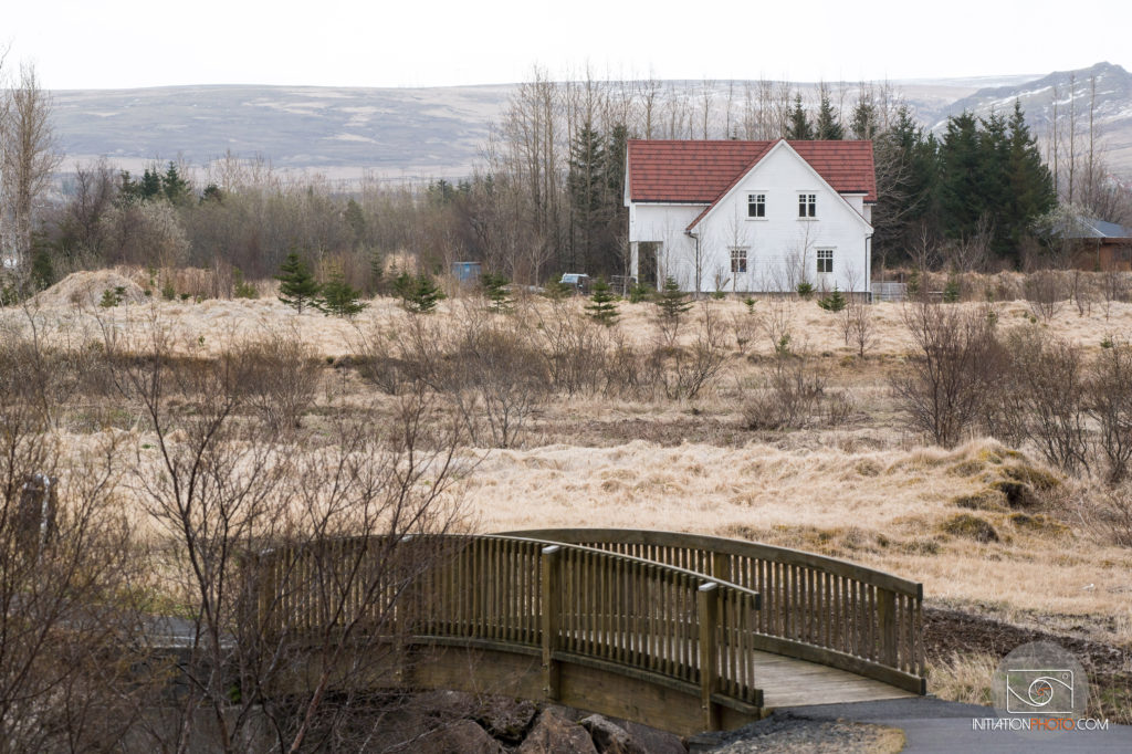
[[(680, 735), (775, 706), (925, 693), (923, 589), (891, 574), (674, 532), (441, 539), (410, 580), (381, 577), (391, 610), (375, 611), (371, 631), (409, 637), (387, 685), (555, 700)], [(323, 557), (309, 546), (263, 554), (259, 625), (301, 634), (365, 618), (372, 588), (325, 564), (376, 569), (387, 552), (338, 539), (319, 545)], [(316, 597), (327, 580), (345, 584), (335, 605)]]

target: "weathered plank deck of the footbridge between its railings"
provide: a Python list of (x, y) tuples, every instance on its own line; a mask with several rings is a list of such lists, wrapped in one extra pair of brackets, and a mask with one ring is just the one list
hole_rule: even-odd
[(766, 708), (866, 702), (917, 696), (880, 680), (816, 662), (754, 652), (755, 678)]

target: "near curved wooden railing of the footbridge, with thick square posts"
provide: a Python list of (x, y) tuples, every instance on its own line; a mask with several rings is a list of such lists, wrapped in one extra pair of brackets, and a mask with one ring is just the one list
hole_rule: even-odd
[(564, 665), (620, 669), (698, 693), (707, 728), (718, 705), (762, 705), (758, 593), (675, 564), (507, 535), (344, 538), (265, 551), (256, 580), (276, 640), (351, 626), (541, 654), (550, 699)]

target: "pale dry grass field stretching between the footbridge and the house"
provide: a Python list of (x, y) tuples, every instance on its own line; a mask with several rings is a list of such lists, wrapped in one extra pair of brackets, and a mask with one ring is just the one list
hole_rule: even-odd
[[(1021, 285), (1007, 282), (1013, 288), (1000, 286), (1006, 292)], [(395, 399), (367, 378), (362, 354), (398, 352), (415, 320), (428, 322), (430, 329), (418, 332), (434, 340), (477, 327), (515, 333), (518, 323), (534, 342), (564, 318), (584, 320), (580, 299), (530, 298), (499, 315), (487, 314), (479, 298), (454, 295), (438, 311), (413, 316), (385, 298), (346, 320), (298, 315), (266, 290), (257, 300), (195, 302), (157, 301), (145, 286), (137, 271), (78, 273), (27, 309), (0, 310), (0, 329), (74, 344), (101, 343), (108, 334), (130, 343), (157, 327), (175, 352), (203, 359), (235, 343), (298, 343), (301, 357), (318, 365), (318, 388), (300, 417), (317, 430), (329, 427), (335, 411), (389, 410)], [(122, 303), (97, 306), (113, 288), (122, 289)], [(993, 312), (1000, 331), (1055, 333), (1087, 353), (1132, 337), (1132, 303), (1099, 293), (1045, 310), (1023, 300), (953, 306)], [(614, 327), (591, 326), (607, 348), (645, 350), (661, 336), (652, 303), (623, 302), (620, 311)], [(1114, 704), (1132, 697), (1132, 548), (1118, 543), (1099, 482), (1058, 472), (1034, 447), (990, 437), (928, 445), (890, 388), (912, 348), (904, 314), (901, 303), (869, 307), (872, 337), (861, 355), (858, 343), (847, 342), (844, 316), (812, 300), (697, 305), (674, 343), (694, 351), (705, 317), (715, 328), (722, 357), (702, 389), (691, 397), (655, 388), (540, 393), (515, 420), (507, 447), (482, 430), (460, 449), (454, 491), (462, 525), (678, 530), (847, 558), (924, 582), (933, 608), (1113, 649), (1120, 659), (1094, 669), (1116, 674)], [(822, 376), (822, 394), (841, 406), (835, 415), (809, 415), (800, 428), (749, 428), (748, 401), (765, 392), (777, 345), (791, 363)], [(472, 401), (470, 411), (477, 406)], [(63, 452), (75, 454), (111, 434), (137, 454), (152, 447), (145, 422), (126, 408), (77, 411), (59, 428)], [(288, 448), (297, 456), (317, 452)], [(128, 499), (130, 485), (123, 489)], [(931, 656), (933, 691), (979, 700), (987, 652), (1010, 649), (942, 642)]]

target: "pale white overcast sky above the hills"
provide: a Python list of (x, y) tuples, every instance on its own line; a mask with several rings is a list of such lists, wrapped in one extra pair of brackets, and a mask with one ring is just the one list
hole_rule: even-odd
[(858, 80), (1132, 69), (1127, 0), (26, 0), (6, 66), (43, 86), (448, 86), (601, 77)]

